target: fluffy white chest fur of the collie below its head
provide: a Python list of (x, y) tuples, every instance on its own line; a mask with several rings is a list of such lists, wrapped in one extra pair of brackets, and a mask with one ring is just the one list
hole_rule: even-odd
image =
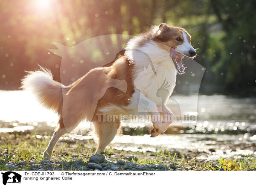
[[(128, 57), (135, 63), (134, 86), (157, 106), (161, 106), (163, 100), (172, 94), (176, 82), (177, 73), (169, 52), (159, 48), (154, 41), (127, 51)], [(169, 93), (163, 97), (157, 92), (164, 82)]]

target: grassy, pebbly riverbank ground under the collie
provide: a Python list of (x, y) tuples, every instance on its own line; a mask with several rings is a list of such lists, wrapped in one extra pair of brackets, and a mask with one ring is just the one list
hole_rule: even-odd
[[(218, 160), (206, 159), (215, 154), (216, 150), (212, 148), (206, 151), (175, 148), (142, 151), (142, 146), (137, 147), (138, 151), (130, 151), (110, 146), (105, 154), (93, 155), (96, 146), (93, 140), (64, 137), (58, 141), (52, 159), (48, 161), (42, 158), (42, 152), (49, 143), (47, 136), (2, 133), (0, 141), (0, 170), (223, 170)], [(255, 148), (251, 144), (239, 147)], [(241, 170), (256, 170), (256, 160), (253, 157), (241, 159), (237, 164)]]

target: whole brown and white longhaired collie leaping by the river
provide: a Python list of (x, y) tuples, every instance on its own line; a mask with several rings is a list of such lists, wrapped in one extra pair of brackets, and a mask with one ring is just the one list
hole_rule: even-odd
[[(124, 54), (111, 64), (90, 70), (69, 86), (54, 81), (51, 72), (44, 68), (29, 72), (22, 80), (22, 88), (59, 115), (58, 129), (44, 158), (49, 160), (58, 139), (86, 119), (94, 124), (99, 138), (96, 153), (100, 153), (115, 137), (122, 119), (106, 121), (103, 116), (140, 112), (156, 118), (173, 116), (165, 102), (175, 87), (176, 74), (184, 72), (185, 55), (196, 55), (189, 33), (161, 23), (129, 40)], [(159, 96), (159, 89), (163, 88), (168, 93)], [(163, 134), (172, 121), (152, 119), (151, 137)]]

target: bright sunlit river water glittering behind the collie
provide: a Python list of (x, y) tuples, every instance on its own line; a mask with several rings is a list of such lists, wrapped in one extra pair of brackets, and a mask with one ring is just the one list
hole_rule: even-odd
[[(111, 146), (131, 151), (156, 151), (163, 148), (198, 151), (214, 149), (215, 152), (207, 156), (209, 160), (248, 154), (256, 156), (256, 98), (175, 95), (167, 105), (172, 105), (173, 100), (178, 103), (181, 112), (195, 116), (197, 121), (176, 122), (172, 125), (177, 126), (175, 134), (171, 132), (155, 138), (150, 138), (148, 134), (116, 136)], [(49, 136), (58, 122), (57, 114), (41, 107), (26, 91), (1, 90), (0, 105), (0, 135), (3, 132), (31, 131)], [(86, 125), (87, 129), (91, 126), (90, 123), (84, 126)], [(70, 137), (92, 138), (90, 135), (83, 137), (74, 134)]]

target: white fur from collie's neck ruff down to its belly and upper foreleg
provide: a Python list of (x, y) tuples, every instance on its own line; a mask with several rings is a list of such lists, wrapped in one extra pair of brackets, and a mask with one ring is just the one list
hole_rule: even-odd
[[(131, 103), (123, 108), (117, 105), (108, 105), (99, 110), (107, 114), (119, 113), (152, 113), (161, 108), (163, 100), (157, 97), (157, 90), (163, 85), (164, 80), (170, 85), (167, 90), (170, 96), (175, 87), (177, 71), (169, 52), (160, 48), (155, 41), (150, 41), (144, 46), (138, 46), (137, 36), (128, 42), (126, 55), (134, 63), (134, 87), (135, 92), (130, 98)], [(154, 70), (152, 69), (152, 65)], [(167, 100), (167, 98), (165, 99)]]

